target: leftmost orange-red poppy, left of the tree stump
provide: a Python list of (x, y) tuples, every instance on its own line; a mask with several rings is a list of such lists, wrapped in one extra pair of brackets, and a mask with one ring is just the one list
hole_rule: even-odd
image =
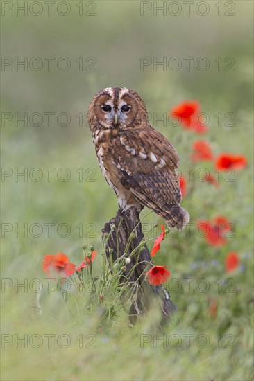
[(74, 273), (75, 265), (70, 263), (69, 258), (62, 253), (44, 256), (42, 269), (51, 277), (51, 269), (62, 276), (70, 276)]

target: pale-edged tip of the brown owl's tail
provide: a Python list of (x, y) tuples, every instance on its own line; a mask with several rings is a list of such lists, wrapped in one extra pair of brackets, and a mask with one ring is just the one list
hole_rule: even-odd
[(182, 230), (189, 222), (189, 213), (185, 209), (180, 207), (180, 204), (176, 205), (164, 205), (164, 219), (166, 220), (169, 228), (176, 227), (178, 230)]

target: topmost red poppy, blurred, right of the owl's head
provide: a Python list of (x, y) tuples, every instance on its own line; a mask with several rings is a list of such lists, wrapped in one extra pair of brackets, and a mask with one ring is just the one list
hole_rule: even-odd
[(200, 105), (197, 100), (189, 100), (173, 107), (169, 114), (173, 118), (180, 119), (180, 123), (187, 130), (202, 134), (208, 130), (208, 127), (203, 123), (203, 116), (198, 115), (199, 109)]

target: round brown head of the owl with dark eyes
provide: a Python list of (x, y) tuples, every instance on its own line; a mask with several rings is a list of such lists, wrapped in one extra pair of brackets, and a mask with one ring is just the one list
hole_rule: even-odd
[(107, 87), (99, 91), (92, 98), (87, 117), (92, 132), (98, 128), (140, 127), (148, 122), (144, 101), (126, 87)]

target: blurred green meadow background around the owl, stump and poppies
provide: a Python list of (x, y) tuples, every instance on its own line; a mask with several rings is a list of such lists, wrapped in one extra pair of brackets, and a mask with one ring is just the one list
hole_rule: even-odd
[[(1, 2), (1, 379), (253, 380), (253, 2), (46, 3)], [(46, 254), (78, 265), (86, 244), (101, 272), (101, 229), (117, 198), (86, 113), (97, 91), (116, 86), (144, 99), (187, 178), (189, 228), (169, 232), (154, 258), (171, 272), (178, 308), (162, 330), (156, 305), (135, 327), (119, 310), (98, 330), (99, 312), (69, 310), (42, 271)], [(208, 116), (205, 134), (167, 117), (186, 100)], [(214, 157), (244, 155), (247, 166), (216, 173), (213, 161), (191, 161), (198, 139)], [(217, 216), (232, 224), (219, 247), (196, 229)], [(148, 209), (142, 218), (151, 249), (164, 221)], [(227, 272), (231, 252), (239, 264)]]

